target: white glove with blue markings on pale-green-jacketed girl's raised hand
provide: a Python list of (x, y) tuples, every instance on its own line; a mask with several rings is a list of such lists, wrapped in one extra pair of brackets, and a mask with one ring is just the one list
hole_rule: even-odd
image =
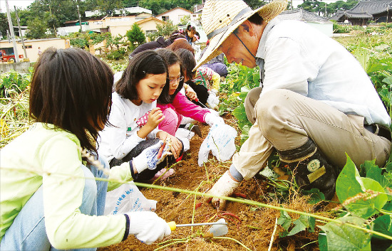
[(144, 149), (138, 156), (133, 158), (132, 164), (135, 166), (135, 169), (138, 173), (145, 171), (145, 169), (156, 169), (157, 165), (162, 162), (167, 155), (172, 154), (170, 152), (170, 146), (165, 145), (165, 149), (163, 149), (162, 156), (158, 159), (158, 152), (160, 150), (160, 146), (163, 145), (163, 141), (158, 141), (157, 144), (153, 144), (152, 146)]

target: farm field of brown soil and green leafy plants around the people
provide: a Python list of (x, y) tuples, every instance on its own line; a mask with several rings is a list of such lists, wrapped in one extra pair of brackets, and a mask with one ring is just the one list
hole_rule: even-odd
[[(359, 60), (391, 115), (392, 112), (392, 31), (369, 31), (357, 36), (336, 38)], [(114, 71), (124, 64), (110, 61)], [(31, 74), (0, 75), (1, 144), (4, 147), (29, 127), (29, 80)], [(250, 123), (244, 114), (247, 91), (259, 84), (258, 69), (229, 65), (229, 77), (221, 84), (220, 112), (225, 123), (237, 129), (236, 146), (247, 139)], [(200, 145), (210, 130), (200, 124), (202, 138), (193, 137), (185, 158), (172, 166), (175, 174), (158, 181), (157, 188), (140, 188), (148, 199), (158, 201), (157, 213), (177, 224), (214, 222), (226, 218), (229, 232), (220, 237), (206, 235), (208, 227), (177, 228), (172, 235), (153, 245), (135, 237), (100, 251), (114, 250), (390, 250), (392, 248), (392, 164), (375, 166), (369, 161), (355, 167), (348, 161), (336, 183), (332, 202), (320, 201), (322, 194), (298, 193), (296, 185), (265, 171), (242, 182), (225, 212), (219, 212), (205, 198), (187, 193), (204, 193), (229, 168), (231, 161), (210, 161), (198, 166)], [(277, 155), (269, 169), (279, 166)], [(358, 171), (356, 171), (358, 170)], [(290, 174), (290, 173), (285, 173)], [(362, 181), (360, 185), (359, 181)], [(365, 184), (363, 184), (363, 181)], [(348, 185), (350, 184), (350, 185)], [(170, 191), (170, 188), (172, 191)], [(186, 191), (185, 191), (186, 190)], [(246, 196), (246, 198), (243, 198)], [(338, 198), (339, 197), (339, 198)], [(242, 200), (242, 201), (239, 201)], [(246, 200), (246, 201), (245, 201)], [(278, 209), (281, 210), (278, 210)]]

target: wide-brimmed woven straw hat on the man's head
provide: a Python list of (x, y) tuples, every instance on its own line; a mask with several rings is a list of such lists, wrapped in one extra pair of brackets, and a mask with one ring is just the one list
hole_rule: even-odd
[(287, 0), (274, 0), (254, 11), (242, 0), (207, 0), (202, 11), (202, 26), (210, 46), (195, 69), (219, 55), (217, 48), (250, 16), (258, 13), (264, 21), (269, 22), (286, 7)]

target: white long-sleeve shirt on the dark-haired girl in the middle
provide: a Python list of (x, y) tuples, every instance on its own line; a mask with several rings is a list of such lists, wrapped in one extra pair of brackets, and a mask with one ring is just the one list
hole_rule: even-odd
[[(157, 106), (157, 102), (142, 105), (135, 105), (128, 99), (112, 93), (112, 108), (109, 122), (112, 126), (105, 126), (98, 137), (98, 154), (103, 154), (108, 161), (123, 159), (135, 146), (145, 140), (138, 137), (138, 124), (136, 121), (143, 115)], [(149, 138), (155, 138), (160, 130), (154, 129)]]

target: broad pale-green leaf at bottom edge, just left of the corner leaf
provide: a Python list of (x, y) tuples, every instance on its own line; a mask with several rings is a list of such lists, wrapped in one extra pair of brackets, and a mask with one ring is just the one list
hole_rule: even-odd
[[(352, 223), (359, 226), (366, 223), (366, 220), (354, 216), (337, 220), (341, 223)], [(326, 233), (328, 250), (371, 250), (371, 235), (363, 230), (336, 223), (327, 223), (320, 228)]]

